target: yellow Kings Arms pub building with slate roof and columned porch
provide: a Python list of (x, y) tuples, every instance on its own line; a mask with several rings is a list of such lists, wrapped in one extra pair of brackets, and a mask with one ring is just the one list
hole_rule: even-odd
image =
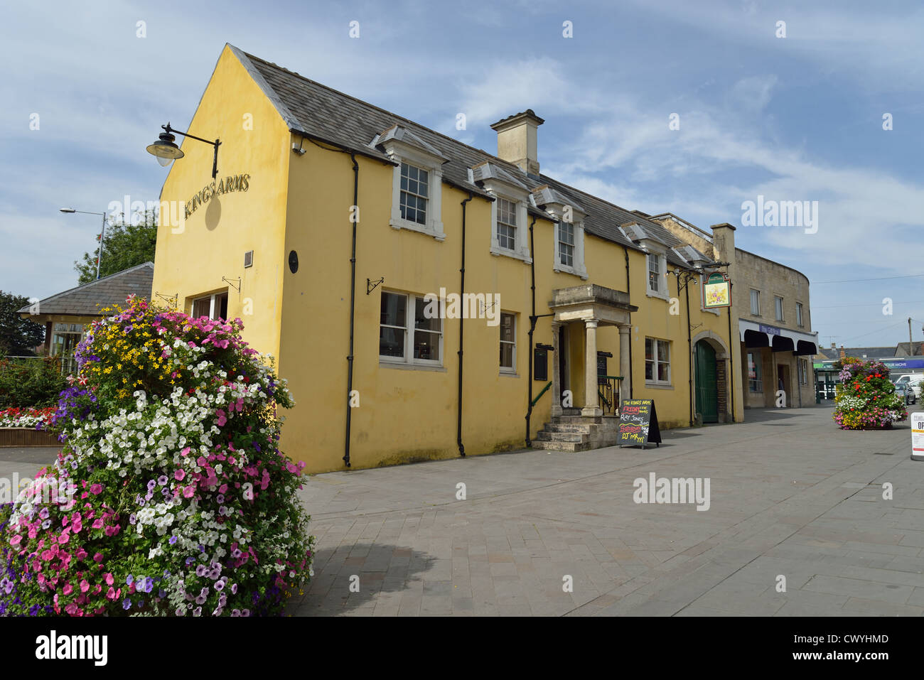
[(610, 445), (628, 398), (742, 420), (721, 253), (542, 175), (542, 123), (498, 121), (491, 155), (225, 45), (189, 126), (217, 176), (184, 141), (152, 291), (276, 358), (310, 472)]

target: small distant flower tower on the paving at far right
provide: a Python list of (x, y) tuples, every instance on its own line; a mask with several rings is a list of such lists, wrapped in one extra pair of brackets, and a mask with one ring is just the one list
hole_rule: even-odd
[(881, 361), (848, 357), (834, 363), (841, 381), (834, 390), (833, 419), (842, 430), (883, 430), (908, 417)]

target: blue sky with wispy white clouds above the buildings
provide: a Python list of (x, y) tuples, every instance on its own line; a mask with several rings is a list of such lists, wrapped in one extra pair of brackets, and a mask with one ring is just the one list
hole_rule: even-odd
[[(60, 208), (157, 200), (166, 168), (145, 147), (167, 121), (187, 129), (230, 42), (488, 152), (490, 125), (532, 108), (543, 174), (627, 210), (728, 222), (738, 248), (805, 273), (822, 346), (894, 346), (909, 317), (924, 340), (924, 5), (563, 5), (0, 7), (0, 290), (77, 284), (102, 218)], [(759, 197), (809, 211), (752, 224)]]

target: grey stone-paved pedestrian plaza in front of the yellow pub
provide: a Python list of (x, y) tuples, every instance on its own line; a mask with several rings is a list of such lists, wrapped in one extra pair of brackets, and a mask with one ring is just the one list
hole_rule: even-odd
[[(645, 450), (313, 476), (315, 577), (289, 613), (921, 615), (924, 463), (908, 423), (840, 431), (831, 413), (750, 410)], [(0, 476), (42, 455), (0, 450)], [(709, 509), (637, 504), (650, 473), (708, 479)]]

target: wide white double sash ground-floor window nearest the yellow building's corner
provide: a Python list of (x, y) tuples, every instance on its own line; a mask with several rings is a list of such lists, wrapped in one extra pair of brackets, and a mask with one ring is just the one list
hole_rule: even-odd
[(441, 366), (443, 320), (428, 318), (428, 300), (405, 293), (382, 292), (379, 359), (389, 363)]

